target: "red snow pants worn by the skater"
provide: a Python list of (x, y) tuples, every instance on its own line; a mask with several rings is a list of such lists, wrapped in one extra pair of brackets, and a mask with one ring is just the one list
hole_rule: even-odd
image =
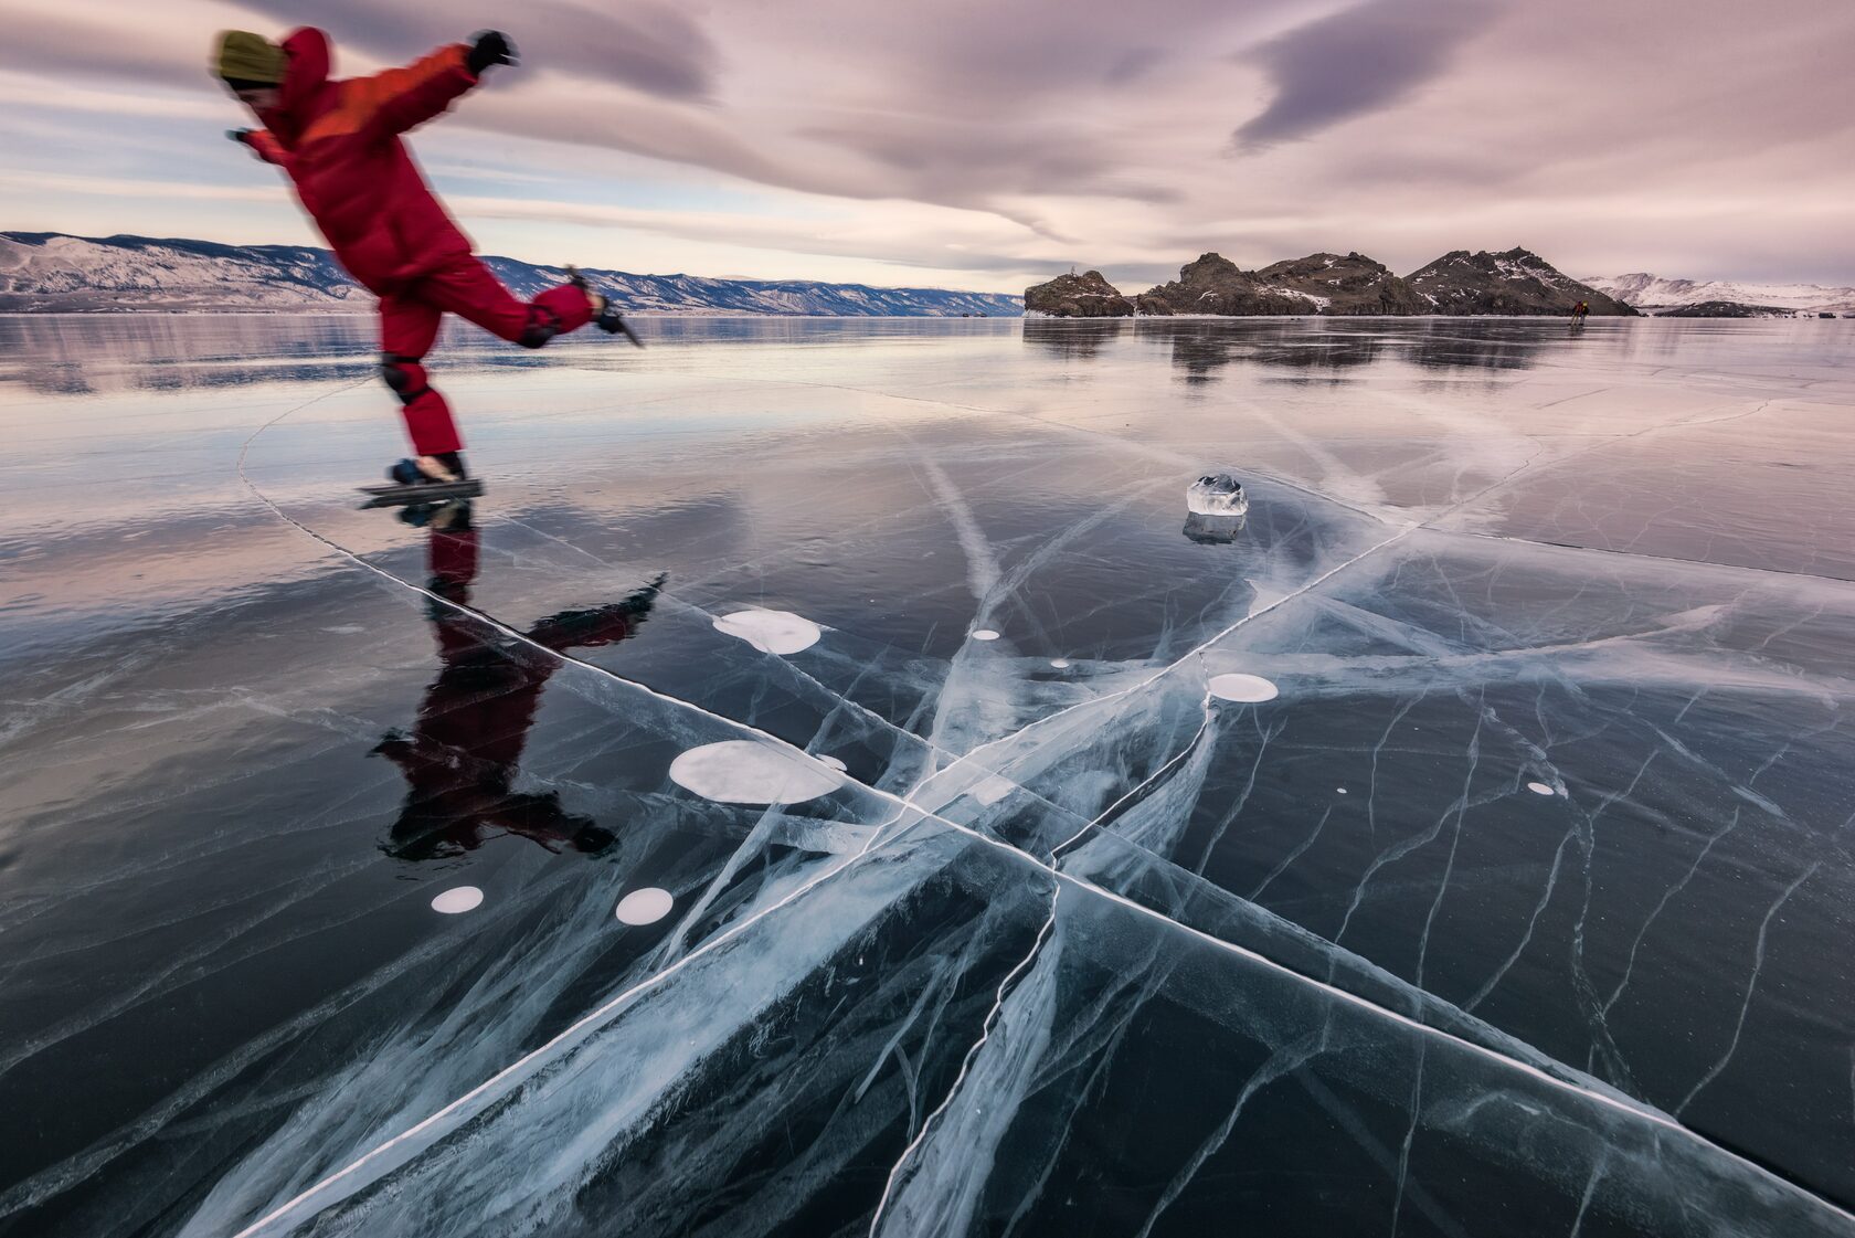
[(516, 301), (475, 254), (458, 254), (430, 275), (380, 297), (380, 373), (399, 395), (406, 434), (417, 455), (460, 451), (464, 440), (451, 406), (427, 380), (425, 355), (438, 340), (445, 314), (538, 349), (555, 336), (592, 321), (592, 306), (573, 284), (549, 288), (534, 301)]

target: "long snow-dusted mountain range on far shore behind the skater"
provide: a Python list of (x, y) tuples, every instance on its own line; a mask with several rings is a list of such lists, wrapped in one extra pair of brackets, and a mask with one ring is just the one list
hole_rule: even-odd
[[(486, 258), (521, 297), (562, 282), (560, 267)], [(942, 288), (870, 288), (812, 280), (718, 280), (586, 269), (595, 288), (636, 314), (814, 314), (851, 317), (1011, 317), (1018, 297)], [(145, 236), (0, 232), (4, 312), (364, 312), (373, 297), (326, 249), (215, 245)]]

